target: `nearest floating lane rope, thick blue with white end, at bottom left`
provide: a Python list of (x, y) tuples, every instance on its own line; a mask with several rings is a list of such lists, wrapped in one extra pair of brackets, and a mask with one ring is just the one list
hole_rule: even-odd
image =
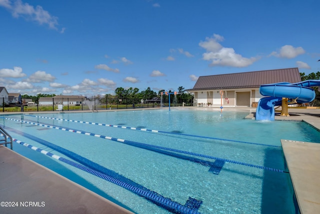
[[(168, 197), (164, 197), (164, 196), (156, 193), (155, 191), (147, 189), (146, 187), (144, 187), (144, 188), (136, 187), (136, 186), (134, 186), (134, 185), (132, 185), (130, 183), (122, 181), (122, 180), (120, 180), (118, 178), (115, 178), (115, 177), (113, 177), (111, 175), (102, 173), (102, 172), (100, 172), (98, 170), (92, 169), (91, 167), (87, 167), (85, 165), (73, 162), (72, 160), (69, 160), (69, 159), (66, 159), (64, 157), (55, 155), (52, 152), (49, 152), (49, 151), (46, 151), (44, 149), (35, 147), (35, 146), (30, 145), (28, 143), (25, 143), (23, 141), (17, 140), (16, 138), (12, 138), (12, 140), (15, 141), (16, 143), (19, 143), (19, 144), (21, 144), (21, 145), (23, 145), (25, 147), (28, 147), (28, 148), (30, 148), (32, 150), (35, 150), (35, 151), (38, 151), (38, 152), (40, 152), (42, 154), (48, 155), (48, 156), (50, 156), (52, 158), (60, 160), (60, 161), (62, 161), (64, 163), (67, 163), (67, 164), (69, 164), (71, 166), (79, 168), (79, 169), (81, 169), (83, 171), (86, 171), (86, 172), (88, 172), (90, 174), (93, 174), (93, 175), (95, 175), (97, 177), (100, 177), (100, 178), (102, 178), (102, 179), (104, 179), (106, 181), (109, 181), (109, 182), (111, 182), (113, 184), (116, 184), (116, 185), (118, 185), (120, 187), (123, 187), (123, 188), (125, 188), (125, 189), (127, 189), (127, 190), (129, 190), (129, 191), (131, 191), (131, 192), (133, 192), (133, 193), (135, 193), (137, 195), (139, 195), (139, 196), (144, 197), (145, 199), (153, 202), (154, 204), (156, 204), (156, 205), (158, 205), (158, 206), (160, 206), (162, 208), (165, 208), (166, 210), (168, 210), (170, 212), (173, 212), (173, 213), (199, 213), (196, 208), (190, 208), (188, 206), (182, 205), (182, 204), (180, 204), (180, 203), (178, 203), (176, 201), (173, 201), (172, 199), (170, 199)], [(84, 159), (86, 159), (86, 158), (84, 158)]]

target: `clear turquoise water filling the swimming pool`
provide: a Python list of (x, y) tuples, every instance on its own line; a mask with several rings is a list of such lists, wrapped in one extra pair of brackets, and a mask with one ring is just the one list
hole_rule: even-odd
[[(247, 114), (248, 111), (224, 111), (220, 115), (216, 110), (147, 109), (3, 115), (0, 124), (13, 138), (70, 160), (73, 152), (80, 156), (74, 162), (82, 164), (86, 158), (88, 165), (98, 164), (132, 185), (200, 213), (295, 213), (289, 174), (251, 166), (287, 171), (280, 139), (316, 142), (320, 133), (304, 122), (244, 119)], [(116, 141), (118, 138), (128, 144)], [(144, 144), (137, 147), (134, 143)], [(14, 143), (13, 150), (135, 213), (169, 212), (128, 189), (20, 144)]]

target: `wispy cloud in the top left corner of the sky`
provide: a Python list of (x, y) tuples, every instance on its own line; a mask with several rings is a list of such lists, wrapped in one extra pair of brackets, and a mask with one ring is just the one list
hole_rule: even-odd
[[(9, 0), (0, 0), (0, 6), (7, 8), (13, 17), (23, 17), (25, 20), (35, 21), (40, 25), (47, 24), (49, 28), (57, 30), (58, 18), (50, 15), (42, 6), (33, 7), (28, 3), (23, 3), (21, 0), (12, 0), (11, 2)], [(62, 28), (60, 32), (63, 32), (64, 29)]]

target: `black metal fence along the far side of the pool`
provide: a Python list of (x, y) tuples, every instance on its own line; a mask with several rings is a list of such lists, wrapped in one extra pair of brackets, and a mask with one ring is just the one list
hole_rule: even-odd
[[(25, 111), (55, 111), (62, 105), (63, 111), (69, 110), (112, 110), (134, 109), (150, 107), (168, 107), (168, 97), (163, 96), (161, 101), (149, 101), (138, 98), (54, 98), (33, 97), (22, 98), (12, 102), (7, 97), (0, 97), (1, 112), (25, 112)], [(170, 106), (191, 106), (192, 100), (177, 100), (171, 97)]]

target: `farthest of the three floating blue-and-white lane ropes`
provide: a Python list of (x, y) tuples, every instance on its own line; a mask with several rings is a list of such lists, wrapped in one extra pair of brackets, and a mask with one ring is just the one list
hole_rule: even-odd
[(199, 138), (204, 138), (204, 139), (224, 140), (224, 141), (230, 141), (230, 142), (240, 142), (240, 143), (247, 143), (247, 144), (254, 144), (254, 145), (263, 145), (263, 146), (271, 146), (271, 147), (281, 147), (281, 146), (279, 146), (279, 145), (268, 145), (268, 144), (263, 144), (263, 143), (246, 142), (246, 141), (240, 141), (240, 140), (234, 140), (234, 139), (224, 139), (224, 138), (217, 138), (217, 137), (210, 137), (210, 136), (202, 136), (202, 135), (195, 135), (195, 134), (175, 133), (175, 132), (169, 132), (169, 131), (161, 131), (161, 130), (153, 130), (153, 129), (146, 129), (146, 128), (121, 126), (121, 125), (111, 125), (111, 124), (96, 123), (96, 122), (85, 122), (85, 121), (78, 121), (78, 120), (72, 120), (72, 119), (54, 118), (54, 117), (48, 117), (48, 116), (35, 116), (35, 115), (30, 115), (30, 114), (24, 114), (24, 115), (34, 116), (34, 117), (40, 117), (40, 118), (46, 118), (46, 119), (55, 119), (55, 120), (61, 120), (61, 121), (79, 122), (79, 123), (92, 124), (92, 125), (102, 125), (102, 126), (109, 126), (109, 127), (117, 127), (117, 128), (131, 129), (131, 130), (140, 130), (140, 131), (148, 131), (148, 132), (156, 132), (156, 133), (165, 133), (165, 134), (176, 134), (176, 135), (182, 135), (182, 136), (199, 137)]

